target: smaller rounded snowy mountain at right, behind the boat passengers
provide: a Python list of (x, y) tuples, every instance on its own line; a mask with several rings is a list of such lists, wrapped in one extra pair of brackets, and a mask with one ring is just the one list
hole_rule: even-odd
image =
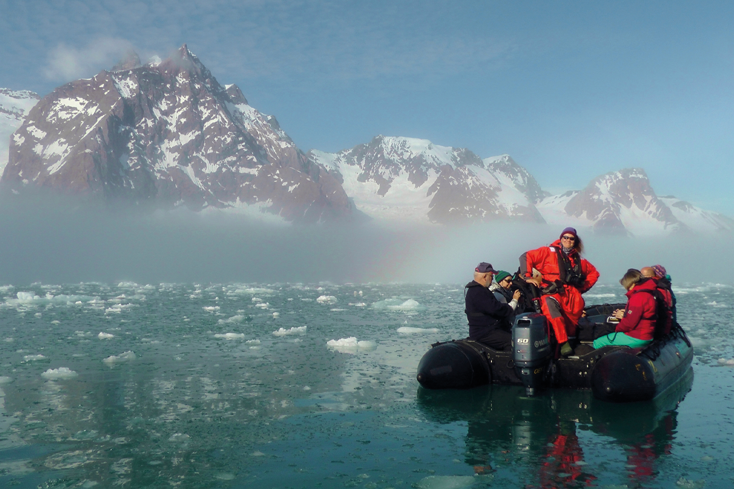
[(686, 229), (639, 168), (603, 174), (584, 190), (548, 196), (537, 207), (550, 224), (592, 227), (595, 232), (645, 236)]

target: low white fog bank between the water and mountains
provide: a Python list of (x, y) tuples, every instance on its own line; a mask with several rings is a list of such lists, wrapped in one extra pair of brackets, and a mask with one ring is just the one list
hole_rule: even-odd
[[(560, 229), (266, 224), (228, 213), (139, 213), (59, 199), (0, 201), (0, 284), (160, 282), (465, 283), (476, 263), (517, 270)], [(581, 230), (580, 230), (581, 231)], [(661, 263), (675, 282), (734, 283), (729, 235), (632, 239), (581, 232), (602, 283)]]

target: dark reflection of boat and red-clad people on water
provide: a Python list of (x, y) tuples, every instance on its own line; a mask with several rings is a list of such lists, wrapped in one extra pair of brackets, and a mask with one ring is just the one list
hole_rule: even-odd
[[(597, 485), (599, 474), (584, 460), (579, 442), (579, 431), (586, 430), (599, 439), (595, 449), (602, 446), (625, 466), (626, 485), (637, 487), (654, 479), (658, 458), (670, 453), (675, 408), (692, 383), (693, 370), (688, 369), (654, 400), (624, 405), (597, 400), (589, 390), (556, 389), (522, 397), (523, 387), (500, 385), (466, 391), (419, 388), (417, 397), (432, 422), (468, 423), (465, 463), (476, 474), (519, 464), (530, 472), (523, 474), (526, 488)], [(619, 449), (626, 460), (619, 460)]]

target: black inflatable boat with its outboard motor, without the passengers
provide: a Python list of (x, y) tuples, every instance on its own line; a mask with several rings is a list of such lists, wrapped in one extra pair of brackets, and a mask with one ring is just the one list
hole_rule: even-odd
[[(586, 307), (585, 325), (606, 322), (608, 314), (625, 304)], [(683, 328), (646, 348), (606, 346), (581, 354), (554, 358), (545, 317), (537, 312), (518, 315), (512, 326), (512, 352), (494, 350), (470, 339), (431, 345), (418, 364), (418, 382), (426, 389), (470, 389), (488, 383), (515, 384), (533, 395), (537, 389), (591, 389), (594, 397), (613, 402), (658, 397), (686, 374), (693, 347)]]

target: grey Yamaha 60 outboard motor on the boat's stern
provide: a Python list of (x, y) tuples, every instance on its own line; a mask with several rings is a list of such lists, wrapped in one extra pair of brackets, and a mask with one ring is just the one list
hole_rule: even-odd
[(551, 355), (545, 316), (537, 312), (517, 315), (512, 326), (512, 361), (528, 396), (542, 385)]

